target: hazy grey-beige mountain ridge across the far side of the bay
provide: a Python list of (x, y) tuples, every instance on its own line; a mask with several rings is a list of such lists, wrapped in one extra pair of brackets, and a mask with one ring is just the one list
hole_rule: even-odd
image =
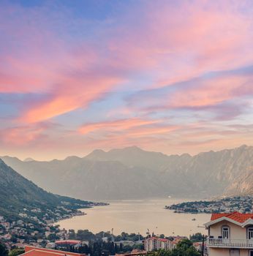
[(50, 192), (90, 200), (253, 194), (252, 146), (193, 157), (133, 146), (50, 162), (1, 158)]

